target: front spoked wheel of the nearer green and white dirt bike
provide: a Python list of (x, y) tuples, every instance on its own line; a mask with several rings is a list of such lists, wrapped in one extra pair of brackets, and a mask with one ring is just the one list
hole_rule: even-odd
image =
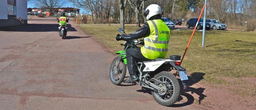
[[(126, 74), (126, 65), (123, 60), (119, 61), (119, 58), (120, 57), (114, 58), (110, 66), (110, 80), (114, 85), (120, 85)], [(114, 70), (115, 67), (116, 70)]]

